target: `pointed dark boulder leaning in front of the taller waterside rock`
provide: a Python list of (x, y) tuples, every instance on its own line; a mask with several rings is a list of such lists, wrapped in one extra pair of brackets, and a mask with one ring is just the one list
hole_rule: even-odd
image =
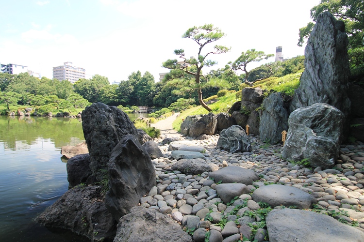
[(139, 203), (156, 185), (155, 171), (148, 152), (135, 136), (125, 135), (111, 153), (109, 187), (105, 204), (116, 220)]

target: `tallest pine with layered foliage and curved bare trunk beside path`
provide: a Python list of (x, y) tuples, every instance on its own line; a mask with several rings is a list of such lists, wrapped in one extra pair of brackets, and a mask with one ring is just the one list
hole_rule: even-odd
[(179, 62), (177, 59), (175, 59), (163, 62), (163, 67), (171, 69), (170, 75), (167, 77), (182, 77), (184, 73), (194, 77), (195, 85), (191, 86), (190, 84), (190, 88), (197, 90), (199, 104), (208, 111), (211, 111), (211, 108), (207, 106), (202, 99), (202, 87), (200, 85), (201, 78), (205, 80), (207, 79), (202, 74), (201, 70), (204, 66), (213, 66), (216, 64), (215, 61), (207, 59), (210, 54), (226, 53), (230, 50), (230, 48), (223, 45), (215, 45), (213, 50), (202, 52), (202, 49), (206, 45), (213, 43), (224, 36), (225, 33), (214, 27), (213, 24), (192, 27), (182, 35), (182, 38), (189, 38), (199, 45), (197, 58), (191, 57), (188, 59), (185, 57), (183, 49), (176, 49), (174, 50), (174, 53), (178, 55), (183, 61)]

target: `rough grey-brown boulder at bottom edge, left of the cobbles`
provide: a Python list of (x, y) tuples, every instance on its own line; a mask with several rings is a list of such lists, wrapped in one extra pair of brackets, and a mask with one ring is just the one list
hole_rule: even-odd
[(171, 217), (143, 207), (134, 207), (123, 216), (118, 225), (114, 242), (192, 242)]

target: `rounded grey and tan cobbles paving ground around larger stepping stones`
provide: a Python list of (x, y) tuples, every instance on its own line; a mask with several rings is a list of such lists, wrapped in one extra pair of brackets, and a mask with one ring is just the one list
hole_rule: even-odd
[[(271, 146), (265, 144), (259, 139), (259, 136), (250, 136), (252, 152), (243, 153), (229, 153), (216, 149), (218, 137), (218, 135), (214, 135), (208, 136), (204, 140), (197, 140), (187, 136), (181, 138), (185, 140), (183, 145), (178, 144), (178, 142), (177, 144), (171, 142), (162, 145), (162, 139), (155, 139), (163, 152), (162, 157), (152, 160), (157, 176), (157, 186), (153, 187), (147, 196), (140, 199), (140, 206), (169, 214), (187, 232), (196, 229), (193, 234), (194, 241), (205, 241), (205, 237), (209, 236), (210, 242), (228, 242), (240, 239), (249, 241), (249, 238), (250, 241), (263, 242), (267, 239), (267, 230), (269, 241), (282, 241), (277, 239), (279, 237), (276, 238), (276, 236), (279, 236), (277, 235), (279, 231), (276, 231), (276, 225), (268, 221), (268, 217), (273, 217), (272, 215), (267, 216), (266, 226), (262, 224), (265, 218), (258, 216), (258, 213), (263, 210), (263, 207), (260, 206), (262, 203), (259, 203), (261, 201), (259, 201), (258, 196), (250, 193), (266, 185), (281, 184), (281, 186), (291, 186), (295, 191), (304, 192), (310, 194), (310, 197), (314, 197), (315, 202), (314, 204), (310, 202), (310, 207), (313, 208), (312, 205), (314, 205), (316, 212), (327, 213), (329, 211), (336, 219), (355, 225), (355, 228), (341, 223), (339, 225), (330, 225), (330, 227), (335, 227), (336, 230), (338, 230), (336, 226), (345, 226), (343, 231), (346, 239), (344, 241), (353, 241), (352, 238), (355, 238), (354, 241), (364, 240), (364, 233), (362, 233), (364, 232), (364, 207), (362, 207), (364, 205), (364, 171), (362, 170), (364, 165), (364, 144), (341, 146), (340, 160), (338, 160), (335, 169), (321, 170), (320, 167), (317, 167), (313, 170), (283, 160), (281, 158), (282, 145)], [(171, 150), (177, 150), (181, 146), (203, 147), (204, 152), (202, 154), (205, 163), (215, 164), (219, 166), (220, 170), (223, 166), (249, 169), (254, 171), (259, 178), (251, 184), (244, 185), (249, 191), (242, 192), (236, 197), (233, 196), (235, 199), (230, 204), (224, 199), (229, 194), (225, 194), (226, 191), (224, 195), (222, 195), (222, 192), (219, 194), (219, 184), (217, 183), (220, 182), (210, 179), (211, 173), (203, 172), (191, 175), (172, 169), (177, 160), (173, 158), (174, 155)], [(281, 186), (278, 186), (278, 188)], [(236, 189), (232, 190), (232, 193), (234, 192), (236, 192)], [(266, 196), (269, 197), (270, 195), (274, 197), (274, 191), (269, 192), (268, 190)], [(284, 195), (282, 194), (282, 196)], [(283, 197), (283, 199), (285, 198)], [(285, 200), (288, 201), (289, 199)], [(292, 205), (289, 202), (286, 203), (285, 207), (295, 206), (293, 208), (297, 208), (300, 205), (299, 202), (295, 201), (292, 202)], [(283, 208), (277, 206), (273, 212), (286, 211)], [(296, 209), (287, 210), (287, 212), (296, 211)], [(306, 210), (310, 209), (306, 208)], [(275, 214), (273, 212), (269, 214)], [(307, 215), (304, 216), (307, 219)], [(331, 221), (331, 218), (328, 218), (324, 217), (323, 219)], [(274, 220), (279, 221), (277, 218)], [(286, 223), (288, 227), (293, 224), (287, 221)], [(279, 229), (284, 229), (284, 226), (279, 227)], [(316, 227), (316, 225), (311, 225), (311, 227)], [(354, 228), (354, 233), (359, 232), (359, 237), (357, 234), (350, 237), (353, 233), (352, 228)], [(304, 230), (304, 228), (298, 230), (300, 229)], [(312, 228), (310, 229), (312, 230)], [(325, 234), (325, 238), (335, 240), (335, 233), (332, 230), (330, 231)], [(298, 234), (295, 234), (295, 232)], [(296, 237), (301, 236), (299, 231), (292, 233)], [(304, 239), (304, 237), (301, 237), (301, 241)]]

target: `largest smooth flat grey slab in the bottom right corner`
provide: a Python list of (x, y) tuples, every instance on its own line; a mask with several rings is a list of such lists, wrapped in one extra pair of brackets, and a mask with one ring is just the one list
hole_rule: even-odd
[(270, 242), (362, 242), (364, 233), (336, 219), (315, 212), (282, 209), (265, 218)]

